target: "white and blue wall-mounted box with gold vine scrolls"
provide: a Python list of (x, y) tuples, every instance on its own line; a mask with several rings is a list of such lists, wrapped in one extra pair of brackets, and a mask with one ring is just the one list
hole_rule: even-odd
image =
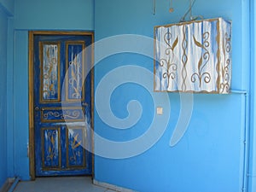
[(230, 93), (231, 22), (222, 18), (154, 27), (154, 90)]

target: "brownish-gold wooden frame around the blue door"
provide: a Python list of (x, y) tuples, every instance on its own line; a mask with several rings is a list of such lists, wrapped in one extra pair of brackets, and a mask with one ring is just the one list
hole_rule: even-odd
[(85, 31), (29, 31), (29, 49), (28, 49), (28, 96), (29, 96), (29, 146), (28, 146), (28, 157), (29, 157), (29, 174), (32, 180), (36, 178), (35, 174), (35, 136), (34, 136), (34, 36), (35, 35), (90, 35), (91, 36), (91, 91), (90, 91), (90, 124), (91, 124), (91, 169), (92, 177), (94, 178), (94, 32)]

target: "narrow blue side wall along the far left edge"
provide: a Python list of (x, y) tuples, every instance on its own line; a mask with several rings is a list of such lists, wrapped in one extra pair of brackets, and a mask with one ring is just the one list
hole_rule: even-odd
[(0, 189), (7, 179), (7, 31), (8, 17), (0, 7)]

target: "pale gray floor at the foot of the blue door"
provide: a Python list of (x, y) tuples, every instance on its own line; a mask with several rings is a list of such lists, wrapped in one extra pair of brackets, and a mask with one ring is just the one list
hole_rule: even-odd
[(39, 177), (20, 182), (15, 192), (113, 192), (92, 184), (91, 177)]

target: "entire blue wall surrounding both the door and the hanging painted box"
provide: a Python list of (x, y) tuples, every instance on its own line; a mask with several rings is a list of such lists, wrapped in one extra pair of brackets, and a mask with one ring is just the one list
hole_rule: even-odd
[[(95, 30), (96, 90), (104, 79), (107, 79), (109, 86), (114, 86), (115, 82), (122, 81), (131, 74), (130, 78), (137, 79), (141, 84), (126, 82), (118, 86), (113, 91), (109, 104), (114, 115), (120, 119), (129, 116), (126, 105), (132, 100), (140, 102), (143, 108), (141, 119), (125, 131), (116, 130), (113, 125), (103, 122), (99, 113), (95, 111), (96, 133), (114, 142), (124, 142), (141, 136), (149, 126), (156, 134), (160, 128), (166, 126), (166, 131), (160, 140), (142, 154), (115, 160), (97, 155), (95, 159), (96, 180), (147, 192), (238, 192), (241, 190), (244, 182), (243, 173), (246, 168), (244, 161), (247, 158), (243, 146), (243, 140), (246, 137), (246, 101), (243, 94), (194, 95), (194, 107), (188, 131), (176, 146), (170, 147), (170, 137), (172, 137), (180, 115), (179, 94), (170, 93), (167, 94), (168, 97), (165, 93), (154, 94), (153, 75), (145, 77), (128, 70), (122, 71), (122, 68), (119, 68), (121, 71), (118, 74), (114, 73), (111, 81), (108, 81), (108, 77), (106, 78), (106, 74), (114, 72), (117, 67), (129, 67), (128, 65), (143, 67), (152, 73), (154, 70), (152, 60), (154, 26), (177, 22), (189, 6), (189, 0), (173, 1), (175, 11), (172, 14), (168, 12), (168, 1), (156, 1), (156, 15), (152, 14), (152, 2), (148, 0), (78, 0), (76, 3), (67, 0), (16, 0), (15, 6), (13, 1), (1, 0), (0, 4), (2, 6), (2, 9), (0, 7), (1, 29), (7, 29), (7, 15), (11, 15), (15, 9), (14, 20), (9, 20), (9, 32), (13, 38), (7, 37), (7, 30), (0, 33), (0, 38), (5, 42), (0, 45), (0, 54), (5, 55), (0, 58), (1, 67), (3, 67), (0, 73), (6, 70), (8, 72), (7, 82), (5, 73), (0, 76), (1, 88), (3, 85), (1, 91), (8, 92), (8, 98), (3, 94), (0, 97), (1, 104), (3, 103), (1, 113), (6, 108), (8, 111), (8, 117), (4, 116), (5, 114), (1, 115), (3, 118), (1, 127), (2, 124), (3, 127), (10, 125), (9, 131), (6, 128), (0, 130), (3, 131), (3, 134), (2, 132), (0, 134), (1, 145), (7, 146), (4, 138), (6, 134), (9, 138), (9, 152), (7, 153), (7, 147), (3, 147), (0, 148), (3, 150), (0, 153), (7, 154), (10, 162), (8, 172), (3, 166), (6, 165), (7, 160), (3, 158), (3, 155), (0, 157), (0, 166), (3, 166), (3, 172), (2, 169), (0, 172), (0, 179), (2, 179), (0, 186), (7, 174), (9, 177), (20, 176), (22, 179), (29, 179), (29, 160), (26, 154), (29, 115), (28, 31)], [(195, 9), (193, 9), (194, 15), (203, 15), (205, 18), (222, 16), (233, 22), (232, 90), (248, 90), (249, 87), (248, 13), (248, 1), (197, 0)], [(137, 37), (138, 41), (134, 39), (130, 41), (127, 36), (125, 41), (122, 37), (110, 38), (127, 33), (141, 35), (141, 37)], [(148, 38), (145, 40), (145, 37)], [(7, 48), (7, 38), (9, 39), (8, 57), (4, 52)], [(13, 49), (12, 39), (14, 40)], [(141, 43), (144, 40), (145, 42)], [(125, 53), (117, 53), (119, 50)], [(127, 53), (129, 50), (133, 53)], [(139, 55), (138, 52), (148, 55)], [(7, 62), (8, 65), (2, 65)], [(7, 90), (6, 84), (13, 89)], [(146, 84), (148, 90), (145, 90), (142, 84)], [(104, 91), (103, 97), (99, 98), (104, 100), (106, 99), (104, 96), (108, 96), (108, 86), (103, 87), (102, 90)], [(7, 107), (3, 102), (6, 100), (9, 103)], [(171, 103), (170, 115), (166, 113), (169, 102)], [(188, 101), (185, 99), (183, 102)], [(156, 124), (151, 125), (155, 108), (158, 106), (164, 108), (164, 115), (157, 117)], [(130, 107), (133, 112), (131, 114), (140, 114), (139, 108), (133, 105)], [(136, 112), (134, 113), (132, 109)], [(106, 113), (103, 111), (103, 115)], [(169, 118), (170, 120), (165, 125), (165, 120)], [(130, 123), (130, 121), (127, 122)], [(114, 122), (110, 122), (112, 123)], [(98, 142), (96, 140), (96, 151), (101, 151), (102, 146)], [(147, 145), (148, 140), (144, 140), (142, 144)], [(124, 154), (125, 150), (134, 149), (130, 147), (115, 152), (118, 156)], [(103, 149), (107, 152), (105, 154), (113, 153), (113, 148), (105, 146)], [(104, 151), (101, 153), (104, 154)]]

